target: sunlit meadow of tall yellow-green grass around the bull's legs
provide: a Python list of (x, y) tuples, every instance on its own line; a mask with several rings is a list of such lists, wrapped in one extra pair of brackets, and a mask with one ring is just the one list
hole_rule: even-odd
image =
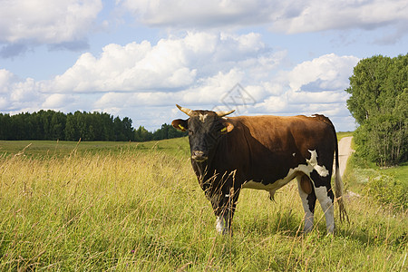
[[(346, 174), (347, 189), (361, 188), (353, 165)], [(360, 192), (346, 197), (350, 224), (336, 213), (326, 235), (316, 207), (304, 236), (296, 182), (275, 202), (244, 189), (223, 237), (185, 138), (0, 141), (0, 270), (406, 271), (406, 210)]]

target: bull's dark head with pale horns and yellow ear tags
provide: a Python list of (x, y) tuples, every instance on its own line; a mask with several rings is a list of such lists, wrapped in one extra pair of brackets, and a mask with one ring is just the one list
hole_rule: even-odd
[(189, 115), (188, 120), (177, 119), (171, 125), (179, 131), (189, 131), (191, 159), (208, 160), (215, 150), (219, 138), (234, 129), (224, 116), (234, 112), (192, 111), (176, 105), (181, 112)]

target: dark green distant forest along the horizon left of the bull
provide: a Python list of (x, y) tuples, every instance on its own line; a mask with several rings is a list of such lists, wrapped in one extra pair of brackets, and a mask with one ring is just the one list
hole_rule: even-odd
[(185, 135), (166, 123), (153, 132), (142, 126), (136, 130), (130, 118), (113, 118), (104, 112), (0, 113), (0, 140), (5, 141), (152, 141)]

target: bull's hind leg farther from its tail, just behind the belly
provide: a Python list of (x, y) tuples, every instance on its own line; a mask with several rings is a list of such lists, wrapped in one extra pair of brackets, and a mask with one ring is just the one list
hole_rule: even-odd
[(315, 218), (316, 194), (312, 182), (306, 175), (297, 176), (297, 189), (299, 190), (300, 199), (302, 199), (303, 209), (305, 210), (305, 233), (313, 229)]

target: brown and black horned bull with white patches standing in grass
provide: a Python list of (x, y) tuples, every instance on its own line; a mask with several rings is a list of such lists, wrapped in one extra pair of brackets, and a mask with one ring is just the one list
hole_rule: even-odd
[[(277, 189), (294, 179), (305, 210), (305, 233), (314, 228), (316, 199), (325, 213), (327, 233), (335, 230), (335, 198), (340, 219), (347, 217), (335, 127), (324, 115), (227, 117), (234, 111), (176, 106), (189, 119), (173, 120), (171, 125), (189, 132), (191, 165), (211, 203), (220, 234), (232, 233), (241, 189), (265, 189), (274, 199)], [(331, 187), (334, 160), (335, 195)]]

